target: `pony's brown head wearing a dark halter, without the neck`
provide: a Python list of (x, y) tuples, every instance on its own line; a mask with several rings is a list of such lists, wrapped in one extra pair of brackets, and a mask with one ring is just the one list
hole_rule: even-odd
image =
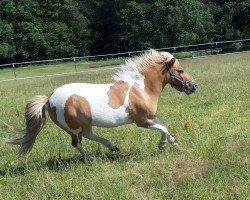
[[(169, 53), (163, 52), (163, 55)], [(171, 54), (170, 54), (171, 55)], [(186, 94), (192, 94), (196, 91), (197, 84), (181, 67), (179, 61), (172, 55), (170, 59), (165, 61), (165, 81), (169, 83), (171, 87), (174, 87), (180, 92), (185, 92)]]

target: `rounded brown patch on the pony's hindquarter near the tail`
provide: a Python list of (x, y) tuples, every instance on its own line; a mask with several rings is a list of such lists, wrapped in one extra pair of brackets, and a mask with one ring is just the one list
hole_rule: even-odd
[(64, 118), (68, 127), (73, 130), (84, 125), (91, 126), (92, 117), (89, 102), (82, 96), (72, 95), (65, 103)]

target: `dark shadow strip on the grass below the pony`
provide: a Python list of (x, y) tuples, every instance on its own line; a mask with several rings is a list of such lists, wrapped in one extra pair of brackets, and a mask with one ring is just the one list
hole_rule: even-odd
[[(46, 162), (41, 162), (39, 160), (33, 161), (30, 164), (22, 164), (19, 166), (13, 166), (13, 167), (6, 167), (6, 169), (2, 170), (0, 169), (0, 176), (7, 176), (7, 175), (19, 175), (23, 176), (29, 173), (32, 173), (34, 171), (64, 171), (69, 168), (72, 168), (77, 165), (85, 165), (86, 167), (91, 167), (93, 163), (98, 163), (100, 161), (107, 161), (107, 162), (120, 162), (125, 163), (129, 160), (133, 159), (137, 155), (139, 155), (140, 152), (95, 152), (95, 156), (93, 160), (87, 160), (80, 155), (77, 156), (71, 156), (67, 158), (62, 158), (60, 156), (50, 158)], [(101, 163), (101, 162), (100, 162)]]

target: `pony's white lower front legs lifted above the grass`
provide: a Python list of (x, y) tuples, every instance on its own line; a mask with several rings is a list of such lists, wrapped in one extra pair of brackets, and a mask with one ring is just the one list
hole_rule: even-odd
[(161, 132), (161, 139), (158, 144), (159, 149), (163, 149), (167, 141), (170, 144), (178, 146), (177, 140), (168, 132), (168, 129), (160, 122), (157, 117), (154, 117), (151, 120), (153, 121), (153, 124), (148, 126), (148, 128)]

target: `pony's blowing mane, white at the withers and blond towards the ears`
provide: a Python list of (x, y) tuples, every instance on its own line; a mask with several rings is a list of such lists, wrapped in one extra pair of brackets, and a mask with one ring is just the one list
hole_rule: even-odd
[(127, 59), (125, 64), (121, 65), (118, 72), (113, 75), (113, 79), (115, 81), (128, 79), (141, 80), (142, 70), (146, 70), (159, 63), (169, 62), (172, 58), (173, 55), (168, 52), (147, 51), (139, 56)]

